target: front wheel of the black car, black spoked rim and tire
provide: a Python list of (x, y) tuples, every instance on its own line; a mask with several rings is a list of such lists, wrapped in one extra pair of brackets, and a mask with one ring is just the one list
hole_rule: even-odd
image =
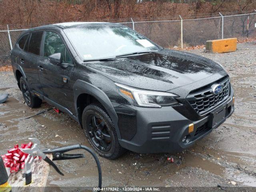
[(116, 159), (125, 152), (118, 142), (114, 124), (102, 106), (90, 104), (84, 108), (82, 125), (88, 142), (100, 156)]

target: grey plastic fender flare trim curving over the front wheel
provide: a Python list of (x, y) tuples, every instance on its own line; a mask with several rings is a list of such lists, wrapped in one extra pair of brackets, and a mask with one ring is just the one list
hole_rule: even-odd
[[(75, 111), (76, 111), (77, 118), (79, 119), (78, 109), (77, 109), (78, 96), (80, 96), (81, 94), (89, 94), (95, 97), (100, 102), (100, 104), (102, 104), (102, 106), (106, 109), (106, 111), (108, 112), (108, 115), (110, 116), (115, 126), (118, 138), (121, 138), (121, 134), (118, 128), (118, 116), (108, 96), (98, 87), (82, 80), (76, 80), (73, 86), (73, 90), (74, 90), (74, 102), (75, 102)], [(79, 124), (82, 127), (82, 122), (80, 122), (80, 120), (79, 120)]]

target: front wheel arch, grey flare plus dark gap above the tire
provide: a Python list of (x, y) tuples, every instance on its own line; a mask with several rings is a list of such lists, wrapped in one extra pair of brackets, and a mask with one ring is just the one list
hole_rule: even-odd
[(75, 110), (80, 126), (82, 127), (82, 112), (84, 108), (88, 104), (98, 102), (104, 107), (107, 114), (110, 116), (112, 122), (114, 123), (118, 138), (121, 138), (118, 129), (118, 116), (108, 96), (96, 86), (82, 80), (76, 80), (73, 90)]

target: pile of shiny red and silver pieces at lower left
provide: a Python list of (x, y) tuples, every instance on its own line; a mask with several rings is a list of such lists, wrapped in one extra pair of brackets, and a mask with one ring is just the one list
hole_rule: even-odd
[(2, 159), (4, 160), (4, 165), (8, 168), (10, 168), (10, 172), (18, 172), (18, 170), (24, 169), (25, 166), (25, 160), (28, 156), (28, 154), (22, 152), (20, 149), (28, 149), (31, 148), (33, 145), (32, 142), (29, 142), (28, 144), (21, 144), (20, 148), (17, 145), (14, 146), (14, 148), (8, 150), (8, 153), (5, 155), (2, 155)]

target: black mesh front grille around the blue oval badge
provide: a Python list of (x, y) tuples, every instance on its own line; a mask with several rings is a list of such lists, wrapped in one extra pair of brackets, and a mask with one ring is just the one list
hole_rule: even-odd
[[(223, 86), (223, 91), (217, 95), (211, 92), (211, 86), (216, 83)], [(187, 100), (198, 114), (204, 114), (226, 100), (229, 96), (229, 93), (230, 80), (229, 77), (226, 76), (216, 82), (208, 84), (207, 86), (193, 90), (187, 96)]]

